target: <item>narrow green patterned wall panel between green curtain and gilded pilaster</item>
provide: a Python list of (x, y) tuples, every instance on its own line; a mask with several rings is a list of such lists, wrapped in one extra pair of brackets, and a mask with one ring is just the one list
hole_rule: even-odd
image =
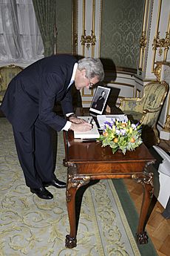
[(72, 53), (72, 1), (58, 0), (57, 53)]

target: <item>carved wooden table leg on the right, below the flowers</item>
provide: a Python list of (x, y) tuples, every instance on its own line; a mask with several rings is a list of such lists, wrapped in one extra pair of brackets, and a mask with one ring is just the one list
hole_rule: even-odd
[(139, 174), (134, 174), (132, 175), (132, 178), (137, 181), (137, 183), (141, 183), (144, 187), (144, 192), (143, 192), (143, 203), (140, 209), (140, 219), (138, 223), (138, 228), (137, 228), (137, 243), (144, 244), (148, 243), (148, 235), (144, 231), (145, 229), (145, 224), (146, 224), (146, 216), (149, 210), (149, 205), (152, 200), (153, 196), (153, 177), (152, 173), (143, 173), (144, 176), (141, 177)]

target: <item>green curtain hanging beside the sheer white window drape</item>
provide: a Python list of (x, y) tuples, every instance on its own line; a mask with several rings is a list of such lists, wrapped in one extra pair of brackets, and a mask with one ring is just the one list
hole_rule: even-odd
[(44, 56), (55, 50), (55, 9), (57, 0), (33, 0), (35, 16), (44, 44)]

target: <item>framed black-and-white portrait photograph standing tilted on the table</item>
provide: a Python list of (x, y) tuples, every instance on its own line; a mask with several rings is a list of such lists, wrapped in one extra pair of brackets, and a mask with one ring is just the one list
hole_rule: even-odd
[(106, 102), (109, 97), (111, 88), (106, 88), (98, 85), (95, 91), (95, 95), (92, 98), (92, 103), (90, 105), (89, 111), (96, 114), (103, 114), (103, 110), (106, 107)]

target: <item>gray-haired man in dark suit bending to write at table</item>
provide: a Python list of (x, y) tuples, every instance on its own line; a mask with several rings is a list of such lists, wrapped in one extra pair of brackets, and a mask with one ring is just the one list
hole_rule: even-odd
[[(55, 131), (89, 131), (92, 125), (73, 113), (71, 85), (89, 88), (103, 79), (100, 59), (55, 55), (40, 59), (25, 68), (10, 82), (1, 111), (13, 125), (13, 134), (21, 168), (30, 191), (42, 199), (52, 199), (47, 186), (65, 188), (54, 174), (52, 138)], [(66, 118), (53, 112), (61, 102)]]

